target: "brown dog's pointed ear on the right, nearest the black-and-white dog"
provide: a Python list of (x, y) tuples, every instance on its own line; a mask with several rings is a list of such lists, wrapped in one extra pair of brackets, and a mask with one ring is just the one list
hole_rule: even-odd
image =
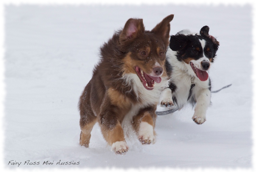
[(154, 29), (151, 30), (152, 33), (155, 33), (164, 39), (165, 47), (169, 46), (171, 30), (170, 22), (172, 21), (173, 16), (173, 14), (167, 16), (160, 23), (158, 23)]

